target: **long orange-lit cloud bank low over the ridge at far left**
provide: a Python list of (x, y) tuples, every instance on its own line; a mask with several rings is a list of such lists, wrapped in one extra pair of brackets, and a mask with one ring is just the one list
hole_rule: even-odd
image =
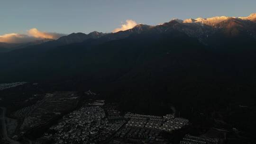
[(64, 36), (64, 34), (41, 32), (37, 30), (37, 28), (32, 28), (27, 31), (27, 34), (11, 33), (11, 34), (0, 35), (0, 42), (28, 43), (28, 42), (33, 42), (35, 40), (40, 40), (44, 38), (58, 39), (61, 36)]

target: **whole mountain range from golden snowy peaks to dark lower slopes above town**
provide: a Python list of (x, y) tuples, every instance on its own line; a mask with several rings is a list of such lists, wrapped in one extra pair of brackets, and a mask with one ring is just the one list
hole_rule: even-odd
[[(0, 53), (0, 69), (0, 83), (91, 89), (137, 106), (163, 100), (179, 106), (196, 101), (197, 107), (217, 99), (254, 101), (256, 14), (173, 19), (117, 33), (73, 33)], [(149, 107), (143, 108), (154, 111)]]

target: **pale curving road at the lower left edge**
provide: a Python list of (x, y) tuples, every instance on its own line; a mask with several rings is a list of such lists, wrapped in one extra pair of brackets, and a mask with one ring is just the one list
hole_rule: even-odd
[(0, 108), (0, 134), (3, 140), (8, 141), (10, 144), (20, 144), (19, 142), (12, 140), (7, 135), (6, 121), (5, 121), (6, 108)]

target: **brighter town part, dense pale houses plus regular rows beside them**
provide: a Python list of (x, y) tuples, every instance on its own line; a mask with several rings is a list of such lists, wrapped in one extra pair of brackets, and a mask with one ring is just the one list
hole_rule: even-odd
[[(99, 102), (99, 100), (97, 100)], [(101, 100), (104, 101), (104, 100)], [(184, 118), (174, 118), (126, 113), (120, 115), (113, 104), (99, 103), (98, 106), (85, 104), (79, 110), (64, 116), (62, 120), (45, 133), (45, 139), (53, 139), (55, 144), (93, 144), (148, 141), (167, 143), (162, 131), (172, 132), (189, 124)]]

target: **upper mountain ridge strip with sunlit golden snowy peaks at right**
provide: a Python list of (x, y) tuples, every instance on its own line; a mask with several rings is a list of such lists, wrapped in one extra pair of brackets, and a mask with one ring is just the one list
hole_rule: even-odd
[[(82, 43), (87, 39), (99, 39), (101, 42), (118, 40), (122, 38), (126, 38), (130, 35), (141, 34), (147, 31), (151, 31), (154, 33), (164, 33), (165, 31), (170, 30), (178, 30), (183, 31), (187, 35), (192, 37), (197, 37), (202, 43), (207, 44), (207, 37), (213, 35), (218, 32), (219, 29), (223, 29), (223, 27), (227, 30), (227, 36), (236, 36), (237, 33), (241, 31), (246, 31), (250, 33), (251, 36), (256, 38), (256, 13), (252, 13), (247, 17), (212, 17), (212, 18), (196, 18), (196, 19), (172, 19), (169, 22), (166, 22), (157, 26), (149, 26), (145, 24), (138, 24), (135, 27), (125, 30), (119, 31), (117, 33), (101, 33), (97, 31), (93, 31), (89, 34), (84, 33), (72, 33), (67, 36), (62, 36), (57, 40), (53, 40), (51, 42), (40, 43), (42, 46), (33, 46), (33, 45), (23, 45), (22, 47), (17, 47), (14, 49), (20, 48), (33, 48), (33, 47), (56, 47), (61, 45), (69, 45), (72, 43)], [(242, 30), (241, 30), (242, 29)], [(38, 43), (39, 44), (39, 43)], [(14, 49), (8, 49), (6, 47), (1, 46), (0, 52), (9, 52)]]

